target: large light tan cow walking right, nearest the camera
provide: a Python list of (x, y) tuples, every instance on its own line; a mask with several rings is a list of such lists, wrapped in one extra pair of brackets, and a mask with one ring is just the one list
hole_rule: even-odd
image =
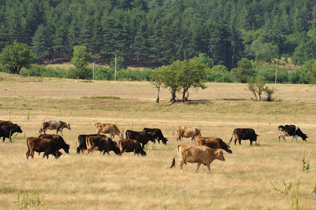
[(196, 167), (195, 173), (198, 172), (201, 164), (206, 165), (207, 170), (210, 173), (211, 169), (209, 165), (213, 162), (213, 160), (217, 159), (225, 161), (224, 154), (221, 149), (214, 150), (207, 146), (179, 144), (176, 146), (176, 150), (174, 151), (174, 157), (170, 168), (174, 167), (176, 153), (179, 156), (179, 165), (181, 170), (183, 169), (183, 165), (186, 165), (187, 162), (198, 162), (198, 167)]

